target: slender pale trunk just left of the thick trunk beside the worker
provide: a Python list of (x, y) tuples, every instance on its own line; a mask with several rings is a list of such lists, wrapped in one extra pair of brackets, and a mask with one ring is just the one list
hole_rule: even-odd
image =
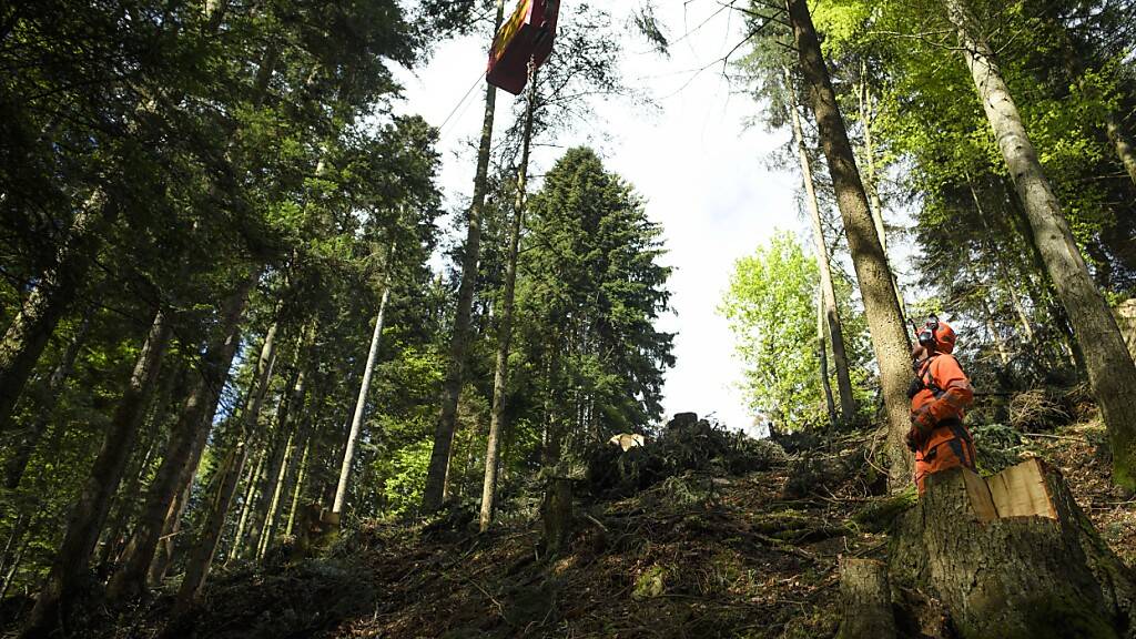
[[(793, 135), (796, 139), (797, 161), (801, 164), (801, 175), (804, 182), (804, 197), (812, 221), (812, 236), (816, 241), (817, 266), (820, 271), (820, 292), (825, 324), (828, 326), (833, 342), (833, 364), (836, 365), (836, 388), (841, 396), (841, 414), (844, 418), (855, 415), (855, 399), (852, 395), (852, 376), (849, 374), (849, 359), (844, 349), (844, 329), (836, 308), (836, 290), (833, 288), (832, 263), (828, 259), (828, 246), (825, 243), (825, 231), (820, 224), (820, 206), (817, 204), (817, 191), (812, 182), (812, 166), (804, 147), (804, 131), (801, 116), (796, 110), (796, 98), (793, 77), (785, 69), (785, 90), (790, 96), (790, 116), (793, 121)], [(825, 377), (827, 380), (827, 376)], [(829, 391), (830, 392), (830, 391)]]

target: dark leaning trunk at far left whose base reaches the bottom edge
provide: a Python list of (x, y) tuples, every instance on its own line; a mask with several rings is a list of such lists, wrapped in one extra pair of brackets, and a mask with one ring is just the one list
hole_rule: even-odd
[(169, 335), (166, 313), (159, 310), (139, 354), (130, 385), (115, 409), (94, 467), (72, 511), (62, 545), (24, 626), (23, 637), (47, 634), (59, 619), (67, 616), (76, 587), (87, 570), (91, 554), (99, 540), (111, 498), (123, 479), (147, 403), (158, 379)]

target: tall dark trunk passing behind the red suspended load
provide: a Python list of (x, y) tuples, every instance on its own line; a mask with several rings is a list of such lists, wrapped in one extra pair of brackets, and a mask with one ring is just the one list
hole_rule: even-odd
[[(493, 33), (501, 28), (504, 17), (504, 0), (498, 0)], [(431, 449), (426, 487), (423, 491), (423, 511), (432, 513), (445, 501), (445, 478), (450, 468), (450, 448), (457, 429), (458, 398), (465, 376), (466, 346), (469, 340), (469, 317), (474, 305), (474, 287), (477, 283), (477, 258), (482, 241), (482, 209), (485, 207), (486, 175), (490, 165), (490, 149), (493, 142), (493, 115), (496, 108), (496, 86), (486, 83), (485, 118), (482, 123), (482, 142), (477, 150), (477, 172), (474, 175), (474, 201), (469, 207), (469, 231), (466, 234), (465, 251), (461, 257), (461, 285), (458, 289), (458, 308), (453, 318), (453, 335), (450, 339), (450, 357), (446, 363), (445, 381), (442, 384), (442, 412), (434, 430), (434, 447)]]

